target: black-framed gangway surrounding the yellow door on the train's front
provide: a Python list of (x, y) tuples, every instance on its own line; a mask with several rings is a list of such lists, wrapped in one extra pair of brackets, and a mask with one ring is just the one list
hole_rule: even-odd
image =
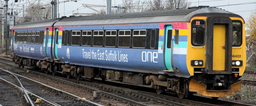
[(209, 16), (205, 48), (205, 71), (209, 74), (232, 72), (232, 20), (227, 16)]

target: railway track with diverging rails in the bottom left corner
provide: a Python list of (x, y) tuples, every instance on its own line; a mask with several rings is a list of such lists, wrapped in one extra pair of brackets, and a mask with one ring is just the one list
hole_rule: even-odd
[[(4, 84), (13, 85), (14, 88), (23, 90), (26, 94), (25, 99), (28, 102), (28, 105), (52, 105), (52, 106), (100, 106), (100, 104), (88, 101), (86, 99), (77, 97), (75, 95), (63, 92), (56, 88), (44, 85), (42, 83), (33, 81), (29, 78), (23, 77), (21, 75), (8, 72), (1, 69), (2, 74), (1, 80), (4, 81)], [(5, 74), (4, 74), (5, 73)], [(5, 75), (5, 76), (4, 76)], [(16, 77), (18, 76), (18, 77)], [(15, 78), (13, 78), (15, 77)], [(19, 83), (17, 83), (19, 82)], [(28, 95), (30, 94), (30, 95)], [(20, 94), (23, 95), (23, 94)], [(17, 98), (16, 95), (11, 96), (12, 98)], [(13, 101), (12, 99), (10, 99)], [(37, 100), (41, 100), (39, 103), (36, 103)], [(17, 100), (15, 100), (17, 101)], [(19, 102), (19, 101), (18, 101)], [(23, 104), (24, 105), (24, 104)]]

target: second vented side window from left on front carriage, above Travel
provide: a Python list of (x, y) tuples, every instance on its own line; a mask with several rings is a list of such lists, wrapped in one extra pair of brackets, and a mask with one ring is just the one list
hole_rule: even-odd
[(91, 46), (92, 43), (92, 31), (82, 32), (82, 46)]

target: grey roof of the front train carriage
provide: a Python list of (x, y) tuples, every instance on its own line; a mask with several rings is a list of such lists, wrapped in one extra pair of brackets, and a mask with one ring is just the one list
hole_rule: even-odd
[(133, 24), (154, 22), (189, 22), (190, 19), (194, 16), (211, 15), (241, 17), (237, 14), (216, 7), (190, 7), (188, 9), (176, 10), (64, 17), (63, 19), (56, 23), (56, 26)]

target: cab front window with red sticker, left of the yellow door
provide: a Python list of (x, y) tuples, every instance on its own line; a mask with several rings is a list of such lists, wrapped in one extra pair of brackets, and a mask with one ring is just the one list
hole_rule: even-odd
[(191, 22), (191, 43), (193, 46), (203, 46), (205, 37), (205, 21), (193, 20)]

